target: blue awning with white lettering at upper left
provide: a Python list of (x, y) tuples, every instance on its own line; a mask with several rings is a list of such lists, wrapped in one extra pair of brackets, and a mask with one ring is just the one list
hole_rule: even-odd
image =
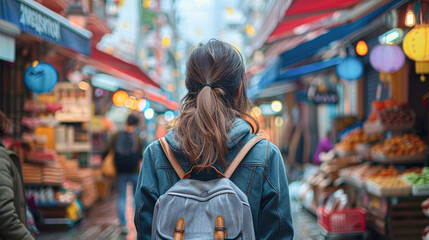
[(90, 55), (91, 32), (32, 0), (0, 0), (0, 19), (26, 33), (73, 51)]

